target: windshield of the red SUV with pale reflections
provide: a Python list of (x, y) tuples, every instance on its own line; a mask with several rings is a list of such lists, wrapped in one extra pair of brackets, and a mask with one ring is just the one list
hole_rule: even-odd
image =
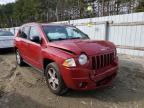
[(89, 37), (75, 27), (67, 26), (43, 26), (44, 32), (49, 41), (67, 39), (89, 39)]

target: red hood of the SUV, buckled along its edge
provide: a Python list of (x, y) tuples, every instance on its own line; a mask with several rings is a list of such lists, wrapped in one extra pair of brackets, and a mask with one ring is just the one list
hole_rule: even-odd
[(115, 49), (113, 43), (108, 41), (96, 41), (96, 40), (63, 40), (55, 41), (48, 44), (51, 47), (55, 47), (73, 54), (81, 54), (82, 52), (87, 55), (95, 55), (98, 53), (104, 53)]

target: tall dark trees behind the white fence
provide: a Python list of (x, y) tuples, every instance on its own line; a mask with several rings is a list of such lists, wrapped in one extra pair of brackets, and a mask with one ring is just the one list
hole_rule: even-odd
[(16, 0), (0, 5), (0, 28), (144, 11), (144, 0)]

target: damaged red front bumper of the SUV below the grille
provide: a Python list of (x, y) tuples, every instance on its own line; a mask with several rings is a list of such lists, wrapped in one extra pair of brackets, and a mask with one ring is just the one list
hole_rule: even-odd
[(111, 67), (101, 74), (94, 75), (88, 69), (63, 69), (63, 79), (68, 88), (74, 90), (93, 90), (111, 84), (117, 75), (118, 66)]

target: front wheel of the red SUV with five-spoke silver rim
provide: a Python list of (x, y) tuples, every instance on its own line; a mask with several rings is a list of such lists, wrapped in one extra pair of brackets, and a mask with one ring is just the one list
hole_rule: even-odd
[(47, 85), (52, 93), (64, 95), (68, 91), (55, 62), (46, 66), (45, 73)]

